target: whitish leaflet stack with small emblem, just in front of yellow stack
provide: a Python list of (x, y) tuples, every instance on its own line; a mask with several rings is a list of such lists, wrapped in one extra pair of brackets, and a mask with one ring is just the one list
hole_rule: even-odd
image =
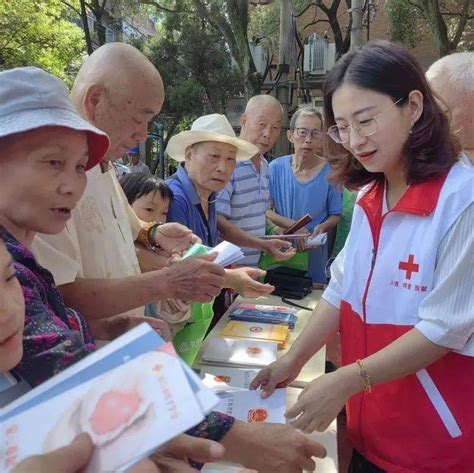
[(277, 359), (277, 343), (214, 337), (207, 341), (202, 361), (219, 365), (267, 366)]

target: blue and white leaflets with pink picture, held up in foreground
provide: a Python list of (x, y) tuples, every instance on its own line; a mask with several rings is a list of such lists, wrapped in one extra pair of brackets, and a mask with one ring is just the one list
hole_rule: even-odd
[(142, 324), (0, 410), (0, 470), (87, 432), (96, 448), (85, 471), (126, 471), (218, 402)]

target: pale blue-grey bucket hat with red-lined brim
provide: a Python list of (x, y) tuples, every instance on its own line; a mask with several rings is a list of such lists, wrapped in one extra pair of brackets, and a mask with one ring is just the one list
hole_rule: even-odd
[(0, 137), (46, 126), (87, 133), (86, 169), (98, 164), (109, 149), (108, 136), (77, 113), (60, 79), (37, 67), (0, 72)]

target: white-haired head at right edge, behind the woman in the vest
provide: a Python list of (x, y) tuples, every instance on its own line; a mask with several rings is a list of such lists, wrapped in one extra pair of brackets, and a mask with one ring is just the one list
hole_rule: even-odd
[(426, 72), (431, 88), (448, 106), (452, 129), (466, 151), (474, 152), (474, 53), (438, 59)]

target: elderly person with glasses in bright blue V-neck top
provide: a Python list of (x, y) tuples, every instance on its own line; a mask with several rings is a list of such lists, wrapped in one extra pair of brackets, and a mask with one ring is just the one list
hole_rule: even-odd
[[(342, 212), (342, 193), (330, 184), (328, 162), (322, 153), (322, 117), (314, 108), (301, 108), (292, 117), (288, 140), (295, 152), (270, 163), (272, 210), (268, 218), (286, 230), (306, 213), (306, 230), (316, 236), (333, 230)], [(327, 243), (309, 250), (308, 272), (313, 282), (326, 283)]]

